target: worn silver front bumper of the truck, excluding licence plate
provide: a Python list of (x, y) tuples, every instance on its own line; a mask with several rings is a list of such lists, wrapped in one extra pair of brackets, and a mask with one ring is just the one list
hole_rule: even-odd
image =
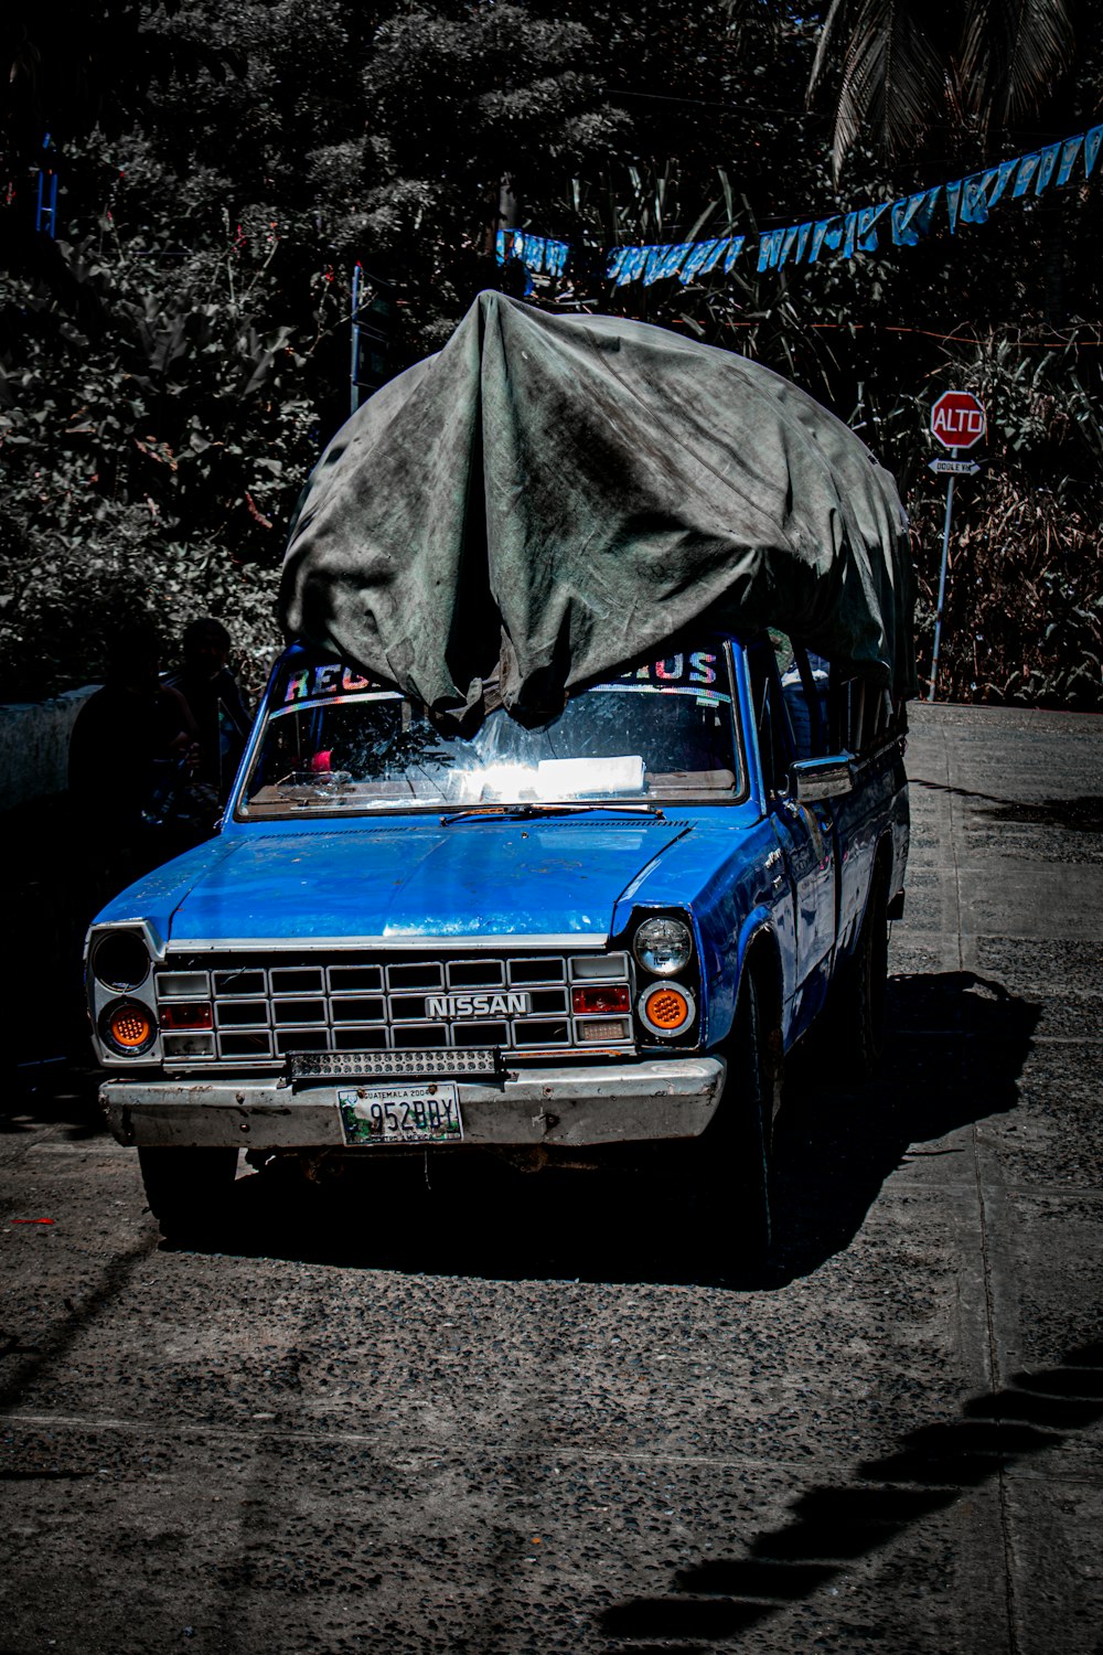
[[(531, 1069), (456, 1086), (465, 1144), (582, 1145), (698, 1137), (724, 1089), (723, 1058)], [(347, 1084), (347, 1082), (346, 1082)], [(107, 1081), (99, 1091), (119, 1144), (141, 1147), (341, 1149), (332, 1082)], [(387, 1145), (369, 1149), (380, 1155)]]

